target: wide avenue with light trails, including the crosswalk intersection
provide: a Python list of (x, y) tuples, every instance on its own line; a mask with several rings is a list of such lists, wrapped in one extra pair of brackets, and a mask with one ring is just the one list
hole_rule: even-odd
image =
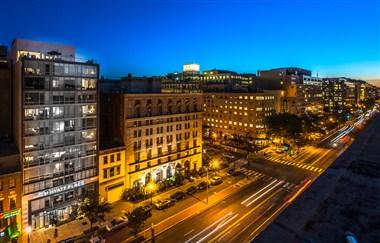
[[(242, 172), (264, 176), (223, 202), (167, 229), (156, 236), (156, 241), (250, 242), (352, 143), (358, 122), (363, 122), (362, 117), (324, 141), (339, 143), (337, 146), (309, 146), (290, 160), (277, 155), (249, 156), (249, 165)], [(352, 137), (343, 140), (345, 136)]]

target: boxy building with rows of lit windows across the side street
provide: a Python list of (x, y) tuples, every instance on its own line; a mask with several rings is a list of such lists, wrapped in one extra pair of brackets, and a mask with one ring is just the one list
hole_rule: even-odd
[(256, 144), (265, 138), (265, 120), (280, 112), (283, 91), (204, 93), (203, 124), (219, 137), (241, 136)]

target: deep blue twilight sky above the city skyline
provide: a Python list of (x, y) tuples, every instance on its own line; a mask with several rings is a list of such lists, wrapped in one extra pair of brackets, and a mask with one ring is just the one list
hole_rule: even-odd
[(380, 79), (380, 0), (0, 4), (0, 43), (18, 37), (70, 44), (107, 77), (162, 75), (195, 62), (202, 70), (299, 66), (322, 77)]

